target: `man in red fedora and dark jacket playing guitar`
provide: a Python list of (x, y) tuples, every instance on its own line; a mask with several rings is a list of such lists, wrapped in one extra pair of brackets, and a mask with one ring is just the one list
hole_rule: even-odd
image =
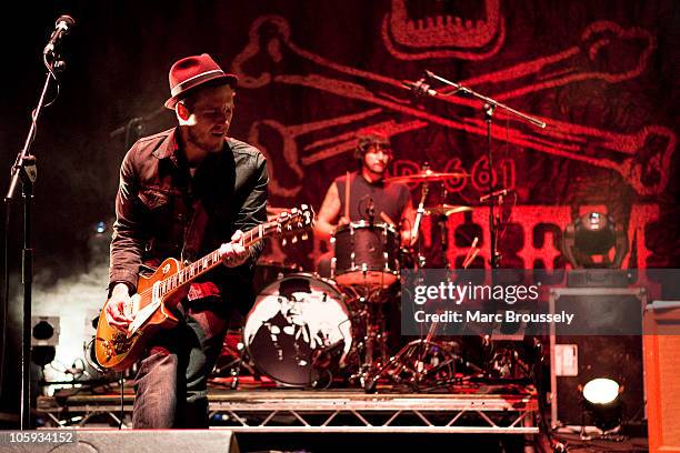
[(134, 427), (207, 427), (208, 373), (230, 311), (246, 312), (254, 301), (262, 244), (244, 246), (242, 231), (267, 220), (269, 178), (262, 154), (227, 135), (237, 77), (207, 53), (177, 61), (169, 76), (166, 107), (179, 124), (140, 139), (123, 159), (103, 312), (109, 325), (126, 332), (142, 264), (193, 261), (219, 250), (224, 265), (191, 283), (177, 305), (180, 322), (147, 344), (134, 382)]

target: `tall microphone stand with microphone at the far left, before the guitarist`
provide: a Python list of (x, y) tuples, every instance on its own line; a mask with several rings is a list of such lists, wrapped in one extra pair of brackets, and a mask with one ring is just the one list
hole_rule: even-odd
[[(23, 249), (21, 251), (21, 283), (23, 285), (23, 312), (22, 312), (22, 329), (21, 329), (21, 409), (20, 409), (20, 429), (29, 430), (31, 422), (31, 392), (30, 392), (30, 374), (31, 374), (31, 294), (33, 283), (33, 243), (31, 236), (32, 221), (32, 199), (33, 184), (38, 177), (38, 168), (36, 165), (36, 157), (31, 154), (31, 144), (38, 131), (38, 119), (44, 107), (44, 98), (50, 88), (52, 79), (57, 80), (56, 72), (64, 69), (64, 62), (58, 54), (52, 53), (52, 61), (44, 56), (44, 66), (48, 73), (38, 100), (38, 105), (31, 113), (31, 128), (29, 130), (23, 148), (17, 154), (17, 160), (11, 169), (10, 185), (4, 197), (7, 204), (7, 215), (11, 202), (17, 197), (17, 185), (21, 180), (21, 195), (23, 197)], [(8, 222), (9, 223), (9, 222)], [(7, 232), (9, 234), (9, 231)], [(9, 253), (9, 250), (4, 251)], [(9, 282), (8, 282), (9, 284)], [(9, 304), (9, 300), (6, 301)]]

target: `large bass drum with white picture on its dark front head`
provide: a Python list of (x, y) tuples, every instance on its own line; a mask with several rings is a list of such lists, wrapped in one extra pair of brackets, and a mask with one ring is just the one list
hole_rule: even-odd
[(332, 280), (308, 273), (269, 284), (243, 328), (256, 368), (280, 384), (311, 386), (320, 373), (341, 366), (352, 348), (348, 299)]

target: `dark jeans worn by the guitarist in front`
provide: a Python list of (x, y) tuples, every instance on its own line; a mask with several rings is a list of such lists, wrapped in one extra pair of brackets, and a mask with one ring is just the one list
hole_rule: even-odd
[(230, 310), (221, 298), (183, 304), (186, 322), (151, 339), (134, 380), (133, 427), (208, 427), (208, 374)]

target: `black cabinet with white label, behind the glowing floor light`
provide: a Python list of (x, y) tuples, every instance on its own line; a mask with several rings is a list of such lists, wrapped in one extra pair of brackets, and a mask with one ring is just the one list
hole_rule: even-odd
[[(550, 293), (550, 312), (574, 313), (568, 333), (551, 325), (550, 384), (552, 427), (582, 425), (581, 392), (596, 378), (610, 378), (623, 385), (623, 421), (644, 417), (642, 373), (642, 313), (647, 305), (643, 289), (560, 288)], [(601, 325), (597, 325), (602, 322)], [(586, 325), (588, 324), (589, 325)], [(594, 335), (612, 332), (608, 325), (624, 324), (621, 335)], [(630, 333), (630, 334), (628, 334)], [(634, 333), (634, 334), (633, 334)]]

